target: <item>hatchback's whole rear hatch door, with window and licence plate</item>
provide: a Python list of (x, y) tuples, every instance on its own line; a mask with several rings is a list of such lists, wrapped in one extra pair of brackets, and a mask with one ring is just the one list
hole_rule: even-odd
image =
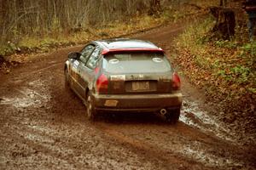
[(162, 94), (172, 91), (172, 67), (162, 53), (122, 52), (103, 59), (109, 94)]

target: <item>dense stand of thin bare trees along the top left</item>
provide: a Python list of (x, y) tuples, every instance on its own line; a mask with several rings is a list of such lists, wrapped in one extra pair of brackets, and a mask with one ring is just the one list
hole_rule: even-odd
[(70, 32), (104, 26), (151, 11), (160, 14), (162, 2), (174, 0), (0, 0), (0, 43), (24, 35)]

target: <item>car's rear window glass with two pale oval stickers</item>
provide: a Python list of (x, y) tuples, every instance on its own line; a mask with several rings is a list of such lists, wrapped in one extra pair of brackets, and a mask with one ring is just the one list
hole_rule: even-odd
[(111, 73), (156, 73), (171, 71), (171, 65), (160, 53), (120, 53), (104, 56), (103, 67)]

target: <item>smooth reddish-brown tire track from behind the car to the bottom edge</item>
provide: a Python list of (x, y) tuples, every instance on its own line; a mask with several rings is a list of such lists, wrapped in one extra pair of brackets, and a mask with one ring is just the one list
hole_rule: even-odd
[[(132, 138), (130, 135), (121, 133), (113, 127), (106, 123), (96, 123), (95, 126), (99, 128), (102, 132), (107, 133), (108, 136), (117, 140), (119, 144), (125, 144), (126, 147), (131, 150), (137, 150), (143, 155), (146, 155), (149, 159), (155, 159), (162, 161), (162, 165), (165, 169), (201, 169), (201, 163), (194, 161), (193, 159), (188, 160), (186, 156), (178, 155), (173, 152), (173, 150), (165, 150), (165, 148), (155, 147), (154, 144), (148, 144), (148, 141), (143, 141), (142, 139)], [(182, 166), (181, 166), (182, 165)], [(195, 166), (196, 165), (196, 166)], [(194, 167), (191, 167), (194, 166)], [(162, 168), (164, 168), (162, 167)], [(212, 169), (211, 167), (204, 167), (205, 169)]]

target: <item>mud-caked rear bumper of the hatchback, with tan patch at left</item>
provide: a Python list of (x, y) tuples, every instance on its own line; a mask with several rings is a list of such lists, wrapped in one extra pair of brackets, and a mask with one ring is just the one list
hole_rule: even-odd
[(119, 95), (92, 95), (96, 111), (131, 111), (148, 112), (160, 109), (180, 109), (182, 94), (119, 94)]

